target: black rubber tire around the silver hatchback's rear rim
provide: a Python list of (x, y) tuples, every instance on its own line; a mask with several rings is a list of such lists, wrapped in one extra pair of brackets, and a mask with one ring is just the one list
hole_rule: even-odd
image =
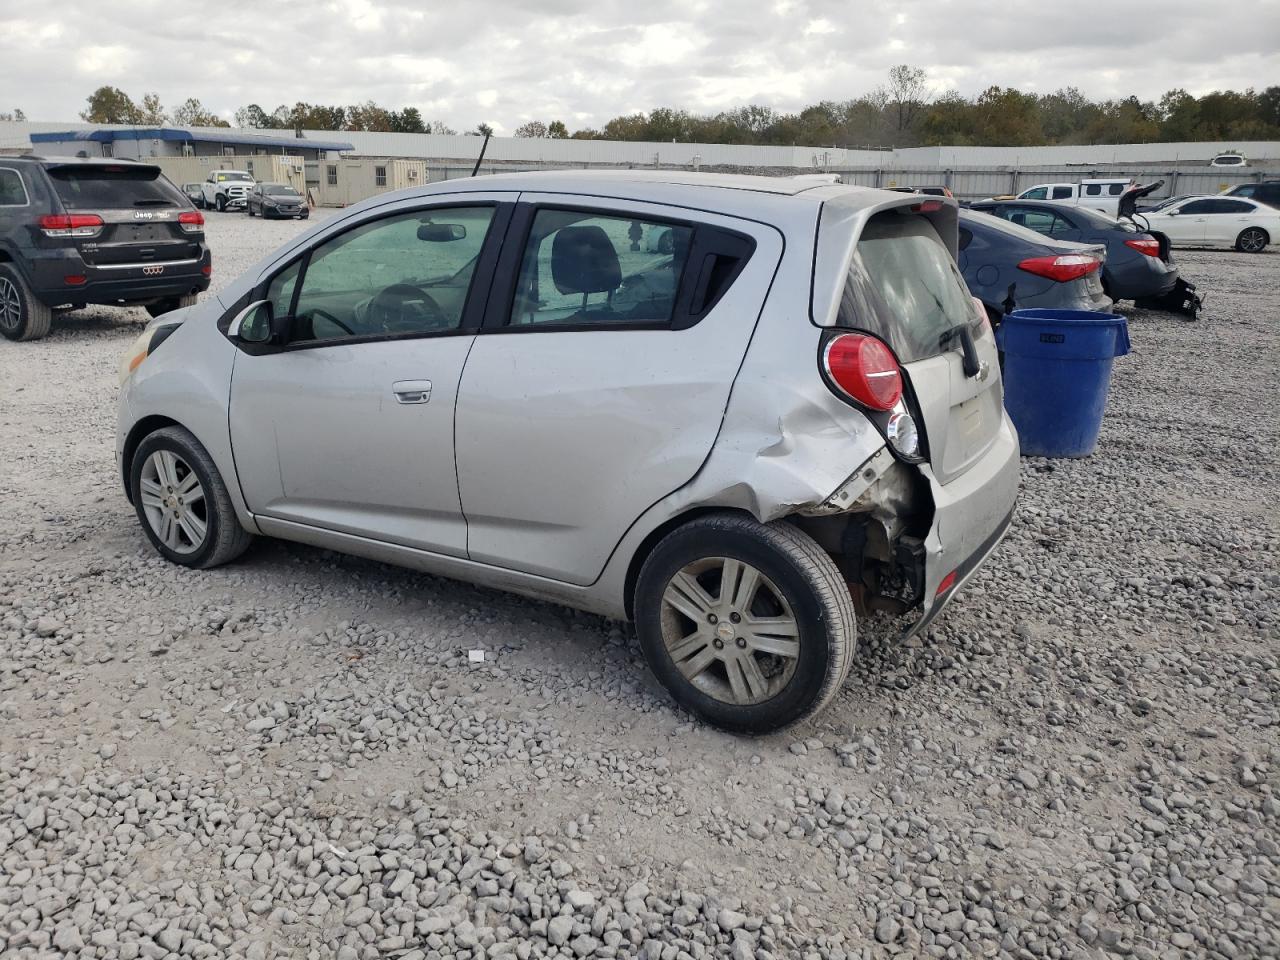
[[(758, 703), (727, 703), (695, 686), (680, 672), (663, 639), (664, 614), (684, 616), (664, 609), (672, 577), (689, 564), (724, 557), (755, 567), (772, 581), (769, 586), (785, 598), (797, 625), (794, 672)], [(708, 723), (736, 733), (771, 733), (824, 708), (840, 691), (858, 646), (852, 596), (831, 556), (790, 524), (760, 524), (736, 513), (699, 517), (658, 543), (640, 568), (635, 620), (645, 659), (672, 698)], [(730, 643), (735, 641), (723, 645)], [(713, 664), (708, 675), (717, 669), (724, 671)]]

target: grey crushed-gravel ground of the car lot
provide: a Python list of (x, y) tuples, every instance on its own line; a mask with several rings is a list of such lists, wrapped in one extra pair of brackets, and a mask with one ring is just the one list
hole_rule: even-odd
[[(211, 214), (216, 280), (298, 229)], [(0, 342), (0, 955), (1280, 956), (1280, 255), (1180, 262), (1206, 316), (1130, 312), (1100, 452), (755, 741), (595, 617), (166, 564), (113, 465), (141, 311)]]

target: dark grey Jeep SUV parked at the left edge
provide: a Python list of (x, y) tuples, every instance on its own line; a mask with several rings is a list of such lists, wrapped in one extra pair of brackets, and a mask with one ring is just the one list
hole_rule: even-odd
[(205, 218), (159, 166), (0, 157), (0, 333), (33, 340), (54, 307), (191, 306), (209, 288)]

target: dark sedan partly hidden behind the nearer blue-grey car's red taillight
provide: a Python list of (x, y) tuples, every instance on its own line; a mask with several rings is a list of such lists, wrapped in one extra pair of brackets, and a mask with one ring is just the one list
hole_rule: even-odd
[(1107, 259), (1102, 264), (1102, 289), (1112, 300), (1162, 297), (1178, 283), (1169, 242), (1140, 230), (1130, 220), (1048, 201), (983, 201), (970, 209), (1053, 239), (1103, 244)]

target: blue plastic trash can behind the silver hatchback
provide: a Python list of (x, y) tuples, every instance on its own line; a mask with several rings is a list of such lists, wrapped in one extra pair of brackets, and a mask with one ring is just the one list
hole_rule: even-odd
[(1098, 445), (1111, 361), (1129, 352), (1123, 316), (1015, 310), (996, 334), (1005, 410), (1028, 457), (1088, 457)]

